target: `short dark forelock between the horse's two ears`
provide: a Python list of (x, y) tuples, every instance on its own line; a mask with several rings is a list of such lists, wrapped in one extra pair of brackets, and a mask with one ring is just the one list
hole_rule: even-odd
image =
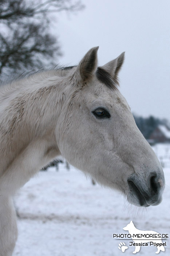
[(96, 71), (98, 80), (104, 83), (108, 88), (117, 90), (118, 80), (111, 77), (111, 75), (103, 68), (98, 67)]

